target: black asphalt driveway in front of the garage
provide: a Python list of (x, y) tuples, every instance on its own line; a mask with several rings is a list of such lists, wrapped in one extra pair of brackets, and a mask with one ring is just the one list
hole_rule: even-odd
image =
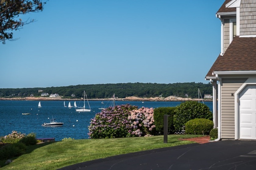
[(255, 170), (256, 141), (188, 144), (112, 156), (62, 170)]

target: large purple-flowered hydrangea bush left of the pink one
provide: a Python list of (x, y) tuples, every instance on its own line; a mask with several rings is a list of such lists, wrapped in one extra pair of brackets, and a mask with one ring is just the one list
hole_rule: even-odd
[(137, 106), (126, 104), (103, 109), (91, 119), (89, 137), (94, 139), (130, 137), (133, 127), (128, 116), (133, 109), (137, 109)]

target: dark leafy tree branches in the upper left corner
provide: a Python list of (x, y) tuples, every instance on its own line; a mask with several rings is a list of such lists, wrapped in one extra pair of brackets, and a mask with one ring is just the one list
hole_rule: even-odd
[(20, 15), (42, 11), (45, 3), (41, 0), (0, 0), (0, 42), (5, 44), (5, 40), (12, 39), (13, 30), (34, 21), (22, 21), (18, 18)]

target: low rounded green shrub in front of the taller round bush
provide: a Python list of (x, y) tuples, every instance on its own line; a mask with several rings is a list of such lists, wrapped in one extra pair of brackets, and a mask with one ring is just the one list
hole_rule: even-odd
[(208, 119), (193, 119), (186, 124), (186, 134), (208, 135), (213, 129), (213, 121)]

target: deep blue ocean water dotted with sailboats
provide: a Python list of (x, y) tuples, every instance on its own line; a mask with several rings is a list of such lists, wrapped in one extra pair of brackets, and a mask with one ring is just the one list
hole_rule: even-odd
[[(75, 108), (64, 107), (63, 101), (41, 101), (41, 108), (38, 108), (39, 101), (12, 101), (0, 100), (0, 136), (11, 134), (13, 130), (21, 133), (36, 133), (37, 138), (55, 137), (55, 141), (63, 138), (88, 139), (88, 126), (96, 113), (101, 110), (98, 108), (108, 107), (110, 102), (89, 101), (91, 112), (76, 112)], [(66, 101), (66, 106), (69, 101)], [(74, 105), (74, 101), (70, 101)], [(116, 101), (117, 105), (131, 104), (144, 107), (174, 107), (181, 102), (149, 102), (138, 101)], [(212, 111), (212, 102), (204, 102)], [(76, 105), (82, 107), (83, 101), (76, 101)], [(86, 102), (86, 108), (88, 108)], [(30, 113), (30, 115), (22, 115)], [(50, 123), (50, 119), (64, 123), (62, 127), (43, 127), (43, 123)]]

